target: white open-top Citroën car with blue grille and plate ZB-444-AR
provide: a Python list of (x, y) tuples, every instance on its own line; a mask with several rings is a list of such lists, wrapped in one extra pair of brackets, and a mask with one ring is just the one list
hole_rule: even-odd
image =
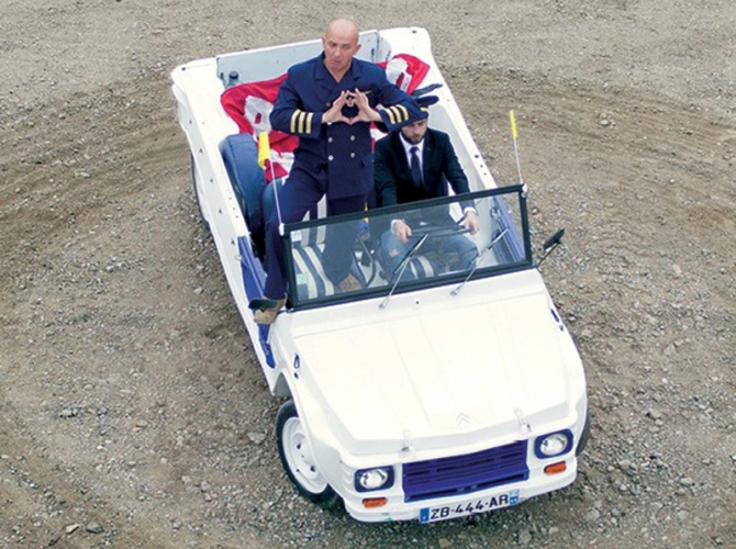
[[(283, 227), (288, 302), (271, 325), (256, 324), (249, 304), (265, 283), (263, 212), (295, 137), (272, 131), (268, 115), (287, 69), (317, 55), (321, 42), (171, 72), (200, 212), (270, 391), (285, 397), (276, 438), (286, 472), (306, 500), (342, 500), (365, 522), (462, 517), (567, 486), (588, 435), (586, 379), (533, 257), (526, 186), (495, 184), (425, 30), (363, 32), (360, 43), (358, 56), (398, 86), (439, 98), (430, 124), (449, 134), (471, 189), (462, 200), (473, 201), (482, 228), (471, 236), (461, 223), (420, 224), (421, 238), (391, 270), (376, 253), (380, 231), (437, 211), (460, 221), (458, 197), (332, 217), (321, 204)], [(270, 163), (258, 160), (263, 132)], [(330, 231), (357, 232), (359, 290), (343, 292), (325, 276)], [(478, 251), (454, 270), (443, 257), (451, 251), (436, 243), (458, 235)]]

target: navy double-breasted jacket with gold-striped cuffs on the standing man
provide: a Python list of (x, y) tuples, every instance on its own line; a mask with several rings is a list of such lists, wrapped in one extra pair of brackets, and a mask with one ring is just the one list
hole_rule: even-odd
[[(419, 112), (416, 101), (389, 82), (378, 65), (353, 58), (350, 68), (336, 82), (323, 63), (324, 54), (294, 65), (270, 114), (275, 130), (299, 136), (290, 179), (305, 181), (331, 199), (367, 194), (373, 187), (370, 124), (323, 124), (322, 114), (344, 90), (358, 88), (379, 110), (383, 124), (393, 130)], [(355, 116), (357, 107), (345, 107)]]

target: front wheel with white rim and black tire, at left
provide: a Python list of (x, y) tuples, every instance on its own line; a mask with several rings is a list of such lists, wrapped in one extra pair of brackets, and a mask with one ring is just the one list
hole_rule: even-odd
[(293, 400), (285, 402), (276, 415), (276, 440), (281, 464), (297, 491), (325, 509), (336, 508), (341, 498), (316, 468)]

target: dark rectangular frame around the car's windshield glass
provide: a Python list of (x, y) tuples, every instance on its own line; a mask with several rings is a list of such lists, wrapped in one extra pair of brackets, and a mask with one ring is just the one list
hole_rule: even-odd
[[(500, 274), (506, 274), (510, 272), (516, 272), (521, 270), (526, 270), (534, 268), (534, 257), (532, 250), (532, 243), (529, 236), (529, 224), (528, 224), (528, 210), (526, 204), (527, 188), (525, 184), (513, 184), (499, 187), (493, 189), (487, 189), (482, 191), (476, 191), (471, 193), (464, 193), (459, 195), (443, 197), (438, 199), (423, 200), (420, 202), (411, 202), (404, 204), (397, 204), (384, 208), (376, 208), (372, 210), (367, 210), (364, 212), (356, 212), (352, 214), (344, 215), (334, 215), (327, 217), (320, 217), (316, 220), (302, 221), (298, 223), (287, 223), (283, 227), (283, 253), (286, 258), (287, 267), (287, 280), (288, 280), (288, 298), (290, 306), (293, 311), (310, 310), (316, 307), (323, 307), (328, 305), (334, 305), (338, 303), (349, 303), (356, 301), (364, 301), (367, 299), (373, 298), (386, 298), (389, 294), (402, 294), (409, 292), (421, 291), (431, 288), (437, 287), (456, 287), (457, 284), (464, 281), (478, 280), (483, 278), (497, 277)], [(366, 220), (367, 217), (378, 216), (378, 215), (393, 215), (401, 212), (408, 212), (411, 210), (417, 209), (428, 209), (434, 206), (442, 206), (446, 204), (454, 204), (465, 201), (478, 201), (480, 199), (488, 199), (492, 197), (502, 197), (504, 201), (515, 200), (518, 203), (518, 220), (515, 223), (512, 222), (509, 224), (511, 227), (512, 243), (518, 246), (517, 254), (522, 256), (521, 260), (514, 262), (508, 262), (504, 265), (498, 266), (488, 266), (479, 267), (471, 273), (465, 271), (458, 271), (456, 273), (445, 273), (441, 277), (434, 276), (430, 278), (422, 278), (412, 281), (401, 281), (395, 284), (395, 288), (392, 288), (393, 284), (380, 285), (377, 288), (364, 288), (357, 291), (352, 291), (349, 293), (334, 293), (331, 295), (324, 295), (319, 298), (311, 299), (300, 299), (297, 291), (297, 269), (294, 259), (292, 257), (292, 245), (293, 238), (292, 234), (301, 232), (308, 228), (315, 227), (327, 227), (328, 225), (336, 225), (339, 223), (346, 223), (350, 221), (359, 222)], [(508, 216), (508, 212), (505, 213)], [(521, 229), (521, 234), (520, 233)], [(300, 233), (301, 235), (301, 233)], [(297, 239), (299, 242), (300, 238)], [(375, 258), (373, 258), (375, 260)], [(469, 276), (468, 276), (469, 274)]]

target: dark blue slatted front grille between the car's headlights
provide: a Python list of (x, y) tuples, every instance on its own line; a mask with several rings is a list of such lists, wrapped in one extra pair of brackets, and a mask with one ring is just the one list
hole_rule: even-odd
[(404, 501), (470, 494), (527, 480), (526, 440), (475, 453), (404, 463)]

